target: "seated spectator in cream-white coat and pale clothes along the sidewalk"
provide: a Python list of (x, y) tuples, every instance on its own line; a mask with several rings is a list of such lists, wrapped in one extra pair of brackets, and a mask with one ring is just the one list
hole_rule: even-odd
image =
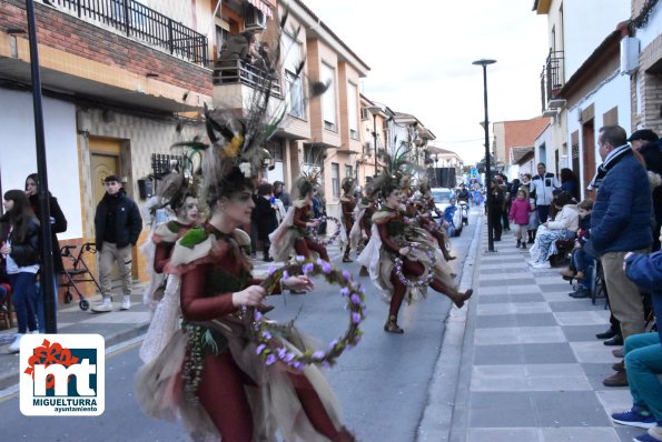
[(570, 193), (561, 192), (554, 199), (559, 210), (553, 221), (545, 221), (537, 229), (535, 242), (530, 250), (531, 262), (534, 269), (549, 269), (550, 257), (559, 253), (556, 241), (574, 238), (579, 227), (577, 205), (572, 203)]

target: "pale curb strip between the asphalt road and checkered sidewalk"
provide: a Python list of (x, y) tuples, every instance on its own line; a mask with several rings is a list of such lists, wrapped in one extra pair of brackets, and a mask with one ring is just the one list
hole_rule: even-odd
[[(464, 291), (473, 287), (476, 271), (476, 255), (481, 242), (484, 215), (478, 214), (474, 237), (468, 248), (464, 265), (460, 290)], [(423, 419), (416, 431), (417, 442), (448, 441), (453, 423), (455, 399), (460, 389), (460, 368), (466, 330), (468, 309), (473, 302), (467, 301), (465, 307), (457, 309), (451, 307), (446, 319), (446, 330), (442, 342), (442, 351), (435, 364), (434, 374), (429, 384), (427, 404), (423, 412)]]

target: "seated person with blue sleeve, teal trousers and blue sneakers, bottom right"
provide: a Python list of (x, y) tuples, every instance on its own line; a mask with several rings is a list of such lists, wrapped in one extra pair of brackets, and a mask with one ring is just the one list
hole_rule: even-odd
[[(655, 317), (662, 318), (662, 252), (628, 253), (624, 268), (628, 278), (642, 291), (653, 293)], [(632, 394), (632, 409), (613, 413), (612, 420), (630, 426), (649, 429), (634, 441), (662, 440), (662, 329), (658, 333), (640, 333), (625, 340), (625, 368)]]

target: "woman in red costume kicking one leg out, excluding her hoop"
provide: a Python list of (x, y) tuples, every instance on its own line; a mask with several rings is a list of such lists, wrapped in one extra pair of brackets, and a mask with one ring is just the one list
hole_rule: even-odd
[[(373, 215), (373, 235), (358, 261), (368, 267), (373, 282), (391, 298), (388, 319), (384, 324), (384, 331), (404, 333), (404, 330), (397, 324), (397, 314), (402, 303), (406, 297), (411, 300), (417, 298), (417, 294), (424, 295), (425, 287), (411, 287), (401, 281), (394, 264), (395, 258), (403, 261), (402, 273), (406, 280), (417, 280), (426, 271), (433, 272), (434, 278), (428, 285), (451, 298), (457, 308), (464, 305), (473, 291), (458, 292), (449, 275), (437, 271), (438, 264), (433, 265), (423, 249), (413, 249), (407, 245), (408, 241), (405, 237), (407, 237), (408, 228), (401, 211), (403, 194), (397, 185), (397, 180), (386, 177), (381, 181), (381, 183), (375, 183), (375, 188), (382, 192), (385, 203)], [(421, 244), (423, 245), (424, 242)]]

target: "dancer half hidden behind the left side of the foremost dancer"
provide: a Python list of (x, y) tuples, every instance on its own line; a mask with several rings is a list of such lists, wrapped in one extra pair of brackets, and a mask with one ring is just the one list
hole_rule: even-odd
[(197, 185), (192, 183), (192, 177), (187, 178), (184, 172), (170, 173), (161, 181), (158, 197), (161, 205), (169, 207), (177, 218), (157, 225), (151, 234), (155, 253), (154, 262), (149, 262), (148, 265), (162, 283), (149, 298), (150, 304), (155, 304), (156, 308), (140, 345), (139, 354), (142, 362), (156, 358), (179, 329), (180, 278), (177, 274), (168, 275), (166, 267), (177, 240), (200, 222)]

